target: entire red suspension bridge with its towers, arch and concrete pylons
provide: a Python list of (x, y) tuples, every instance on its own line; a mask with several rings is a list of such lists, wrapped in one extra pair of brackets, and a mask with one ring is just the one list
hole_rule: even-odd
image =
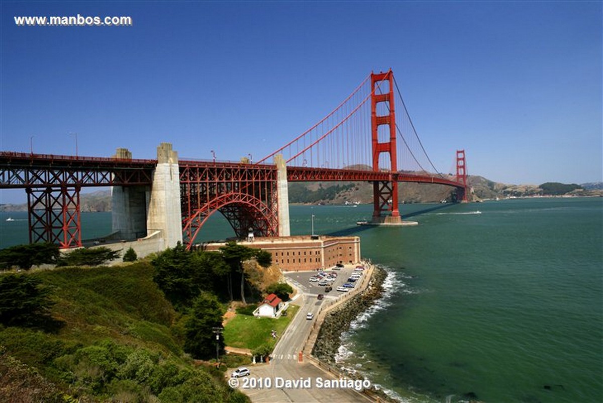
[(119, 237), (145, 238), (154, 230), (164, 247), (190, 247), (216, 211), (237, 236), (249, 228), (289, 235), (287, 182), (371, 182), (377, 223), (400, 222), (399, 182), (453, 186), (456, 200), (467, 201), (464, 150), (455, 161), (455, 175), (434, 167), (390, 70), (368, 75), (321, 121), (256, 163), (178, 161), (168, 144), (158, 147), (156, 160), (132, 159), (123, 149), (107, 158), (2, 151), (0, 188), (26, 190), (32, 243), (81, 246), (80, 189), (113, 186)]

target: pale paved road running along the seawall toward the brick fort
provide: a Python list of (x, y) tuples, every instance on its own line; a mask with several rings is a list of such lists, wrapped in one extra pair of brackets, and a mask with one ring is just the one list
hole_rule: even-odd
[[(316, 283), (311, 283), (308, 278), (314, 271), (311, 272), (290, 272), (285, 276), (294, 282), (297, 289), (300, 291), (300, 296), (295, 303), (300, 305), (300, 309), (295, 314), (294, 320), (289, 324), (288, 328), (283, 333), (279, 343), (274, 348), (271, 355), (270, 364), (261, 364), (250, 367), (251, 375), (245, 378), (254, 378), (245, 380), (239, 378), (239, 390), (244, 392), (251, 398), (254, 403), (274, 403), (274, 402), (295, 402), (295, 403), (311, 403), (311, 402), (372, 402), (367, 396), (361, 395), (354, 389), (347, 388), (319, 388), (317, 387), (317, 379), (337, 379), (338, 376), (332, 373), (324, 372), (318, 369), (313, 364), (308, 362), (298, 363), (299, 352), (308, 339), (312, 330), (312, 326), (318, 316), (318, 310), (321, 303), (327, 299), (336, 299), (343, 294), (335, 291), (335, 287), (343, 284), (352, 274), (353, 269), (344, 268), (339, 271), (338, 278), (333, 284), (333, 291), (325, 294), (324, 300), (318, 300), (317, 295), (323, 293), (324, 287), (318, 287)], [(314, 319), (306, 319), (306, 315), (314, 313)], [(260, 378), (270, 379), (271, 387), (258, 387)], [(299, 379), (310, 379), (311, 387), (275, 387), (277, 378), (282, 378), (289, 381), (298, 381)], [(245, 382), (247, 386), (252, 386), (255, 382), (256, 387), (244, 388)]]

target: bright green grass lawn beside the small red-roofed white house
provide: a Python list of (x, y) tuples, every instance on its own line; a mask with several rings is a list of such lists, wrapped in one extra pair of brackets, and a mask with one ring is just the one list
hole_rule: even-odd
[[(279, 319), (256, 318), (254, 316), (237, 314), (227, 323), (224, 328), (224, 341), (227, 346), (243, 349), (256, 349), (262, 344), (274, 347), (280, 335), (283, 334), (289, 322), (297, 313), (298, 305), (289, 305), (287, 316)], [(270, 332), (276, 330), (277, 338), (273, 338)]]

